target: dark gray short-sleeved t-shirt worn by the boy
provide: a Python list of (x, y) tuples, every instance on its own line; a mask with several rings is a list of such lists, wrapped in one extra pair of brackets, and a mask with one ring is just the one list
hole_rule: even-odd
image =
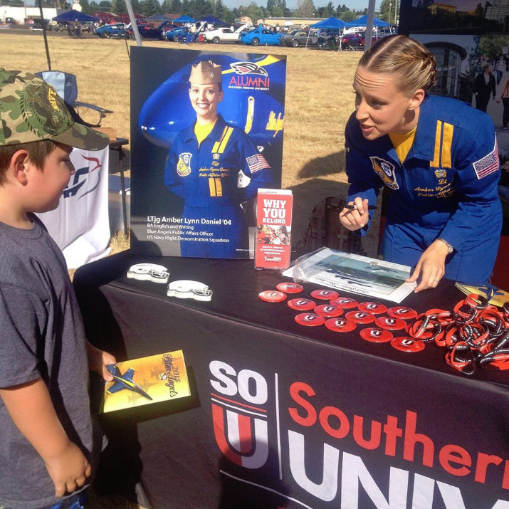
[[(0, 223), (0, 387), (42, 377), (70, 440), (93, 464), (83, 320), (61, 251), (41, 221), (31, 219), (30, 230)], [(61, 500), (1, 399), (0, 426), (0, 507)]]

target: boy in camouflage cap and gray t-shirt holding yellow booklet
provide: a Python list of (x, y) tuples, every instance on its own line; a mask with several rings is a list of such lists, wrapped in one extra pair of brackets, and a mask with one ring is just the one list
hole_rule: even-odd
[(111, 380), (115, 358), (85, 339), (64, 258), (33, 212), (58, 205), (72, 147), (107, 144), (43, 80), (0, 68), (0, 508), (82, 507), (101, 450), (88, 367)]

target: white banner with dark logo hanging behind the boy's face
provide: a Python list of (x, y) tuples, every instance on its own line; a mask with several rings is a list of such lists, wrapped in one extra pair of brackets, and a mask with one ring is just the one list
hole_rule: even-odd
[(106, 256), (110, 249), (107, 207), (108, 148), (96, 152), (73, 149), (70, 177), (55, 210), (38, 214), (61, 248), (68, 268)]

